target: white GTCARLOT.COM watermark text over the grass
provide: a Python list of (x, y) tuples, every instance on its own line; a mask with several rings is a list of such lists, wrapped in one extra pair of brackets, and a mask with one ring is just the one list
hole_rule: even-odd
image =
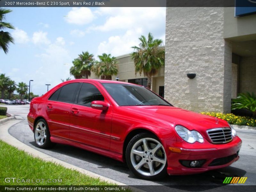
[(6, 177), (6, 183), (62, 183), (62, 179), (20, 179), (16, 177)]

